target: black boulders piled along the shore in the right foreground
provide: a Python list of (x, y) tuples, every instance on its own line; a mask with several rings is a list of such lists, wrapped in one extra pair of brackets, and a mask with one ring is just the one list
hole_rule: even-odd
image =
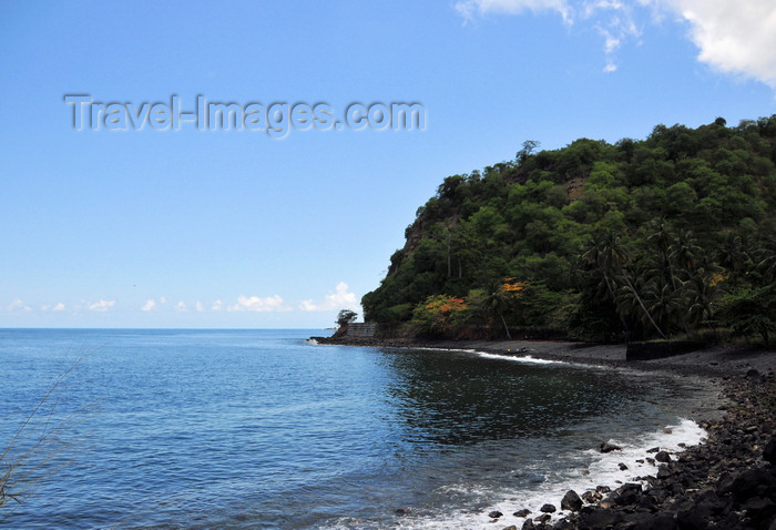
[(731, 400), (725, 416), (701, 422), (707, 441), (678, 455), (653, 455), (662, 463), (656, 476), (640, 477), (646, 488), (626, 483), (605, 497), (584, 492), (582, 499), (601, 500), (566, 506), (570, 514), (554, 526), (527, 520), (522, 528), (776, 529), (774, 373), (753, 369), (732, 377), (725, 394)]

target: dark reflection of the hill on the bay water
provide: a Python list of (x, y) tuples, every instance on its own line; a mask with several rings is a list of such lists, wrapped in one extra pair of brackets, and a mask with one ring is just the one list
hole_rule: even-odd
[(386, 350), (387, 393), (407, 441), (466, 445), (527, 438), (639, 406), (649, 389), (611, 371)]

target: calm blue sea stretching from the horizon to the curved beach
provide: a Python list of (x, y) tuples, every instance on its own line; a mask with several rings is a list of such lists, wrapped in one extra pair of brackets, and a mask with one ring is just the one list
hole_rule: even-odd
[[(681, 419), (691, 380), (305, 340), (320, 334), (0, 330), (2, 447), (76, 363), (2, 461), (58, 436), (0, 524), (492, 528), (492, 509), (520, 523), (511, 512), (654, 472), (631, 460), (703, 436)], [(592, 450), (607, 439), (625, 451)]]

